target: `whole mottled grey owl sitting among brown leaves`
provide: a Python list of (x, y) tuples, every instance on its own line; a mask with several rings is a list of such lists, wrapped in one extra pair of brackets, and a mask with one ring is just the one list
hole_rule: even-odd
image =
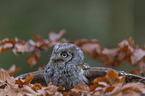
[[(63, 57), (62, 54), (67, 55)], [(88, 84), (84, 76), (84, 55), (79, 47), (74, 44), (58, 43), (52, 52), (49, 63), (44, 71), (46, 83), (65, 87), (66, 90), (80, 83)]]

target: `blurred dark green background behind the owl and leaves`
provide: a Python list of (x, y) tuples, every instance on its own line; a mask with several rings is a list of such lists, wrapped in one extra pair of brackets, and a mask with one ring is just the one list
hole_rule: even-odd
[[(65, 38), (97, 39), (104, 47), (116, 48), (124, 39), (133, 37), (136, 44), (145, 41), (145, 0), (0, 0), (0, 40), (21, 38), (29, 40), (34, 34), (48, 38), (49, 32), (66, 29)], [(41, 52), (37, 65), (29, 67), (29, 53), (15, 56), (12, 51), (0, 54), (0, 67), (12, 64), (25, 73), (49, 61), (52, 49)], [(103, 66), (87, 56), (91, 66)], [(118, 70), (132, 67), (123, 64)]]

